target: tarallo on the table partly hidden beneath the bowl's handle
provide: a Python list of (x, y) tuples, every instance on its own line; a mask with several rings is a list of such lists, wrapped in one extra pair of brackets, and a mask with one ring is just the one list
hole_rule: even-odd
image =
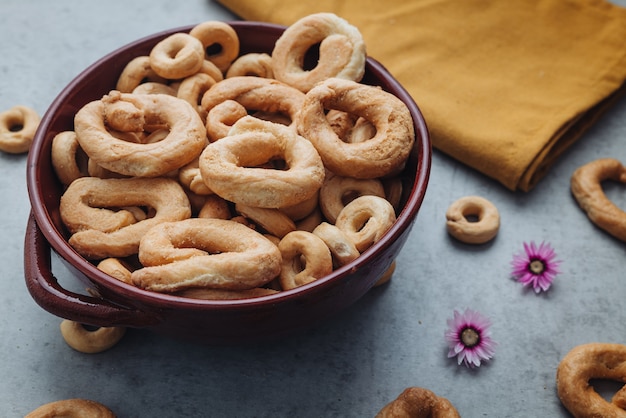
[(63, 339), (76, 351), (87, 354), (101, 353), (117, 344), (126, 333), (125, 327), (99, 327), (91, 331), (79, 322), (61, 321)]

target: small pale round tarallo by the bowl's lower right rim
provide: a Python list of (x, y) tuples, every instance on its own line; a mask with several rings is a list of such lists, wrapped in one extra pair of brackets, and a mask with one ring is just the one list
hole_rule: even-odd
[(335, 226), (362, 253), (380, 241), (395, 221), (396, 213), (391, 203), (382, 197), (364, 195), (341, 210)]

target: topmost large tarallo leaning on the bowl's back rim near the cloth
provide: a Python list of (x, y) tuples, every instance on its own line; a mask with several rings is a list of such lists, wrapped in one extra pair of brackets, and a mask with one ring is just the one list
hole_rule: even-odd
[[(307, 51), (319, 44), (315, 68), (304, 69)], [(315, 13), (291, 24), (272, 51), (274, 77), (303, 92), (330, 77), (361, 81), (366, 48), (359, 30), (333, 13)]]

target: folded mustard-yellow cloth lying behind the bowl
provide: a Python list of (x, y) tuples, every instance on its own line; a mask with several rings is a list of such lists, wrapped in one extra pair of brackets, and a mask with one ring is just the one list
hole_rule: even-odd
[(411, 93), (433, 146), (528, 191), (626, 88), (626, 9), (604, 0), (218, 0), (290, 25), (332, 12)]

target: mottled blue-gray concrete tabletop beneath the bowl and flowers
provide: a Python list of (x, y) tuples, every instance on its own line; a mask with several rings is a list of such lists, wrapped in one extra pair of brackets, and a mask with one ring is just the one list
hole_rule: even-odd
[[(105, 53), (159, 30), (234, 18), (208, 0), (3, 0), (0, 109), (25, 104), (43, 114)], [(569, 178), (596, 158), (626, 162), (625, 143), (622, 99), (526, 194), (435, 152), (392, 282), (341, 315), (258, 346), (206, 347), (129, 330), (98, 355), (69, 348), (60, 318), (26, 290), (26, 157), (0, 154), (0, 416), (90, 398), (119, 417), (373, 417), (409, 386), (447, 397), (463, 417), (569, 416), (555, 388), (560, 359), (582, 343), (626, 343), (626, 245), (588, 221)], [(446, 233), (446, 208), (470, 194), (500, 210), (489, 244), (464, 245)], [(626, 208), (622, 185), (607, 184), (607, 194)], [(526, 292), (509, 276), (512, 255), (530, 240), (549, 241), (563, 260), (547, 294)], [(446, 357), (446, 319), (465, 307), (492, 319), (498, 342), (477, 370)]]

